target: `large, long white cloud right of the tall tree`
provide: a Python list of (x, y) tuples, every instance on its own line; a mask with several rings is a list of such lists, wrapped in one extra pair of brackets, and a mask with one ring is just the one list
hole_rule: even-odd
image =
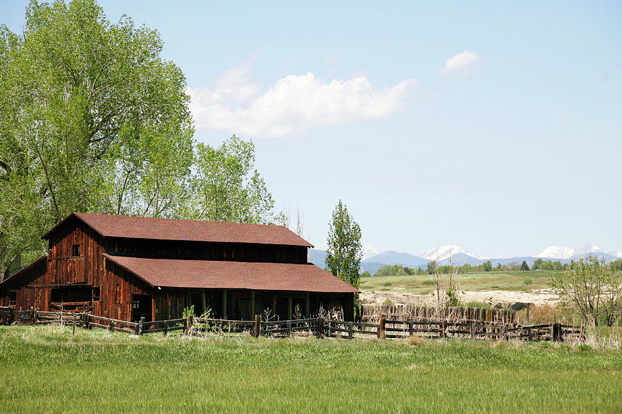
[(375, 90), (364, 75), (323, 83), (312, 73), (288, 75), (264, 92), (249, 82), (252, 60), (226, 72), (215, 88), (189, 88), (196, 128), (243, 135), (283, 137), (368, 119), (406, 108), (417, 85), (404, 79)]

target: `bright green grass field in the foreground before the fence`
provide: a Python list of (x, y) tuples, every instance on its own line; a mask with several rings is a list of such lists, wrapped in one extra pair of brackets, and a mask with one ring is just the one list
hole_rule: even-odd
[(622, 353), (0, 327), (2, 413), (619, 413)]

